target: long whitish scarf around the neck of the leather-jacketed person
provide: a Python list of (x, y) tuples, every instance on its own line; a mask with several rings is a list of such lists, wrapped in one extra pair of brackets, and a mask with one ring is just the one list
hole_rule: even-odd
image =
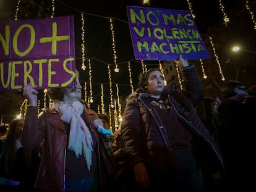
[(89, 128), (81, 117), (83, 112), (83, 104), (80, 101), (75, 101), (72, 104), (66, 102), (56, 102), (53, 104), (53, 109), (59, 112), (61, 120), (70, 124), (69, 145), (70, 150), (75, 152), (75, 156), (82, 155), (90, 170), (92, 165), (92, 135)]

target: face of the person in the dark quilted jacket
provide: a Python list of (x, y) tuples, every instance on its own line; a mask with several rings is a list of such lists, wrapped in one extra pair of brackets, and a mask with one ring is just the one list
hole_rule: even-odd
[(148, 93), (152, 94), (153, 97), (160, 98), (164, 90), (164, 78), (162, 73), (157, 70), (151, 72), (148, 75), (148, 82), (145, 88), (147, 88)]

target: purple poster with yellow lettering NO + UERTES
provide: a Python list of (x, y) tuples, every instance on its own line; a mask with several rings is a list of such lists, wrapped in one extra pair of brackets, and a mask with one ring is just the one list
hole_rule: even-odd
[(0, 22), (0, 91), (74, 85), (72, 15)]

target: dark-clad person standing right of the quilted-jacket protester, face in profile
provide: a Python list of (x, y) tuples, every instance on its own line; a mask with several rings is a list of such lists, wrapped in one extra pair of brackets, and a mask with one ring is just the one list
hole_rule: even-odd
[(243, 145), (247, 135), (244, 101), (248, 94), (245, 84), (236, 80), (224, 82), (221, 94), (225, 100), (218, 107), (218, 144), (225, 160), (226, 190), (246, 191)]

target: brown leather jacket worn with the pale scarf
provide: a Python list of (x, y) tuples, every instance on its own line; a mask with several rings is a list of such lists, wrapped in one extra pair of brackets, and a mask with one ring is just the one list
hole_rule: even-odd
[[(45, 140), (35, 187), (46, 191), (64, 191), (67, 145), (64, 122), (58, 112), (52, 108), (43, 109), (39, 115), (37, 111), (37, 107), (28, 106), (22, 131), (22, 144), (25, 148), (35, 149)], [(88, 127), (92, 120), (98, 117), (98, 114), (90, 109), (84, 109), (83, 115)], [(96, 130), (93, 132), (99, 143), (98, 132)], [(100, 161), (98, 150), (97, 154)]]

